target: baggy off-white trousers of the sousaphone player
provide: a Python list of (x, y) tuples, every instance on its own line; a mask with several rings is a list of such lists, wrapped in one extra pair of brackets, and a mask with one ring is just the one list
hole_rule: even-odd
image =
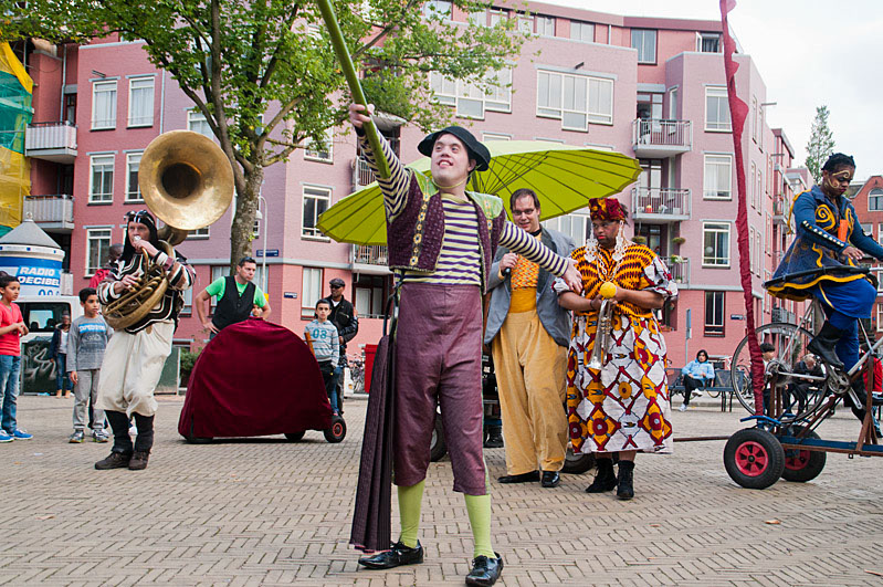
[(114, 332), (102, 361), (96, 407), (126, 416), (154, 416), (154, 389), (171, 354), (174, 334), (171, 321), (151, 324), (136, 334)]

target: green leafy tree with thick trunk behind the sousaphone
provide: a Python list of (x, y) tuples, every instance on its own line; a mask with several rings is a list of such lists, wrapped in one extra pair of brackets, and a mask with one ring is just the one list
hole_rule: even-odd
[[(431, 98), (430, 72), (490, 91), (525, 40), (514, 20), (464, 27), (444, 12), (472, 13), (486, 0), (335, 0), (364, 86), (378, 109), (422, 128), (452, 116)], [(346, 118), (343, 74), (313, 0), (32, 0), (6, 10), (0, 40), (39, 36), (87, 42), (119, 33), (145, 41), (201, 112), (233, 167), (231, 270), (251, 254), (264, 169), (284, 161)]]

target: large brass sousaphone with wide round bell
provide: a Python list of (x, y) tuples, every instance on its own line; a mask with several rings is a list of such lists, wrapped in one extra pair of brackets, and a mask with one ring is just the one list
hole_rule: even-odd
[[(233, 169), (221, 148), (210, 138), (190, 130), (170, 130), (156, 137), (141, 155), (138, 186), (150, 211), (165, 227), (159, 228), (160, 249), (175, 256), (172, 247), (187, 232), (208, 227), (227, 211), (233, 200)], [(144, 318), (168, 287), (165, 270), (145, 254), (138, 283), (104, 306), (114, 329)]]

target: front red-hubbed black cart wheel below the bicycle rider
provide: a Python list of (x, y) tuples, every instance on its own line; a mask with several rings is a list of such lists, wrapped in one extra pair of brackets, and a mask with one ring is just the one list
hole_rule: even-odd
[(766, 489), (781, 476), (785, 451), (766, 430), (747, 428), (729, 437), (724, 448), (724, 467), (743, 488)]

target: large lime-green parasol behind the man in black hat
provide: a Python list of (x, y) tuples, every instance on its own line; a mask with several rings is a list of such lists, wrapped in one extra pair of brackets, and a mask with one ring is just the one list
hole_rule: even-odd
[[(539, 197), (543, 220), (585, 208), (591, 198), (619, 193), (641, 172), (637, 159), (588, 147), (493, 140), (487, 148), (493, 156), (491, 168), (473, 174), (466, 189), (508, 202), (515, 190), (530, 188)], [(408, 167), (429, 175), (430, 160), (422, 157)], [(338, 242), (386, 244), (380, 187), (374, 182), (332, 206), (319, 217), (318, 228)]]

